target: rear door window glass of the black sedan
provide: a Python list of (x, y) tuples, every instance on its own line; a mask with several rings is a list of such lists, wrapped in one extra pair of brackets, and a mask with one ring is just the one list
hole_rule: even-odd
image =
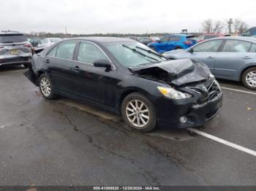
[(76, 42), (63, 42), (59, 44), (56, 57), (72, 60), (76, 44)]

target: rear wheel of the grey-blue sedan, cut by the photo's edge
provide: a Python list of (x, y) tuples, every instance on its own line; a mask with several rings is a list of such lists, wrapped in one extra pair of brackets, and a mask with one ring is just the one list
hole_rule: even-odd
[(242, 82), (245, 87), (256, 90), (256, 67), (246, 69), (242, 74)]

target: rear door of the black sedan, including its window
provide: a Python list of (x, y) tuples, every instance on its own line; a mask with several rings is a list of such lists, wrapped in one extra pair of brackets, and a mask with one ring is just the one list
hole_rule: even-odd
[(62, 42), (45, 56), (44, 62), (48, 65), (48, 74), (56, 90), (72, 94), (74, 71), (74, 52), (78, 42)]

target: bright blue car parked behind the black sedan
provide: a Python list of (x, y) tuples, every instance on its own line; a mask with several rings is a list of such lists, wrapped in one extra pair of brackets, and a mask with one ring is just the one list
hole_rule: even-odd
[(197, 43), (195, 36), (186, 34), (173, 34), (163, 36), (158, 42), (148, 44), (152, 50), (159, 53), (167, 52), (170, 50), (187, 49)]

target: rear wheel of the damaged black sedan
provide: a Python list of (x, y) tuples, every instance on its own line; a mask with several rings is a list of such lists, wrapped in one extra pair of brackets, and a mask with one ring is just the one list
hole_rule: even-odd
[(47, 74), (41, 74), (39, 76), (39, 90), (42, 93), (42, 96), (46, 99), (53, 100), (57, 98), (56, 93), (54, 93), (53, 85)]

